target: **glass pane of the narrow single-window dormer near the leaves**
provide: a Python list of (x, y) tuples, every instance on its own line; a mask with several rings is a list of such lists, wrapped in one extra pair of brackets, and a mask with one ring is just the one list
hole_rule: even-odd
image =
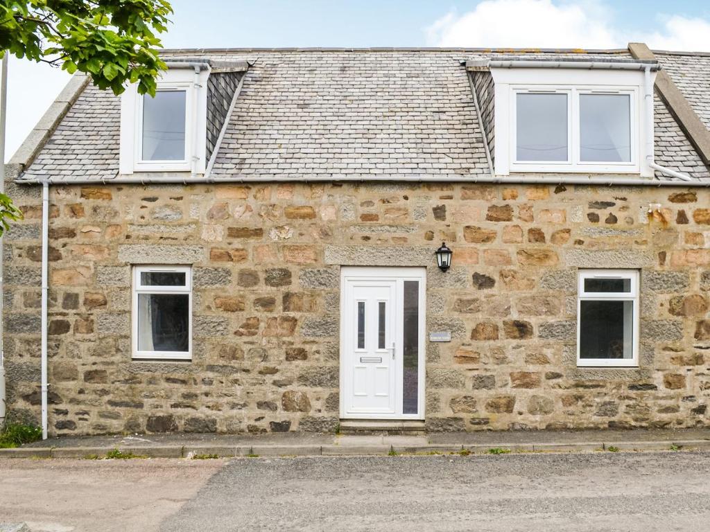
[(185, 91), (143, 96), (143, 160), (185, 160)]

